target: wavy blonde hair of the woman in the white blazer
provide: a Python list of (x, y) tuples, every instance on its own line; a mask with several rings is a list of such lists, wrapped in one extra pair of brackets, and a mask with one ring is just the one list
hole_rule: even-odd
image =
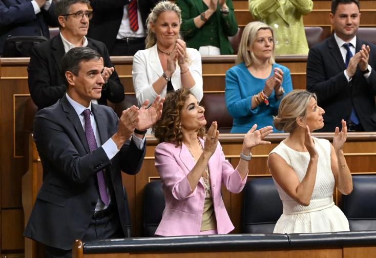
[[(148, 28), (148, 34), (145, 39), (145, 49), (153, 47), (157, 43), (157, 37), (155, 36), (155, 33), (152, 31), (150, 23), (155, 23), (157, 22), (157, 19), (159, 15), (162, 12), (168, 12), (168, 11), (173, 11), (176, 12), (176, 14), (179, 17), (179, 22), (181, 25), (181, 11), (180, 8), (175, 4), (170, 1), (161, 1), (159, 2), (152, 10), (152, 12), (149, 14), (149, 17), (146, 21), (147, 23), (147, 28)], [(179, 38), (181, 38), (180, 33), (179, 33)]]

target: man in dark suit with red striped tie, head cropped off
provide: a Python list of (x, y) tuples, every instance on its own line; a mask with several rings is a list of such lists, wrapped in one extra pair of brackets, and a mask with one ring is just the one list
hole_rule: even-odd
[(106, 44), (110, 55), (134, 55), (145, 49), (146, 20), (160, 0), (90, 0), (89, 36)]

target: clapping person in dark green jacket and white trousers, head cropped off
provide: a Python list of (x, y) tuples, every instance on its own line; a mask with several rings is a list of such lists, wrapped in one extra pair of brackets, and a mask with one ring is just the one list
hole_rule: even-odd
[[(187, 47), (203, 54), (233, 54), (228, 36), (238, 32), (232, 0), (176, 0)], [(201, 48), (200, 48), (201, 47)]]

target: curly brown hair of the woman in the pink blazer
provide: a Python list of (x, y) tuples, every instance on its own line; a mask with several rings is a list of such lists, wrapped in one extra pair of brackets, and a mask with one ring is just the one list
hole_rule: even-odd
[[(169, 92), (163, 103), (162, 116), (153, 126), (154, 136), (160, 143), (173, 142), (176, 146), (181, 145), (183, 133), (180, 128), (180, 112), (185, 101), (192, 93), (187, 89), (178, 89)], [(205, 135), (205, 127), (201, 127), (197, 136)]]

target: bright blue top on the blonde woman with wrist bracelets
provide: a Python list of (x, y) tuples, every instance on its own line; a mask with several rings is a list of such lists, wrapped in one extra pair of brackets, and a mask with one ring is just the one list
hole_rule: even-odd
[[(240, 63), (226, 72), (225, 100), (228, 113), (234, 118), (231, 133), (246, 133), (254, 124), (257, 128), (273, 126), (273, 116), (278, 114), (278, 107), (282, 98), (293, 90), (290, 70), (279, 64), (274, 64), (270, 76), (274, 73), (274, 68), (283, 71), (282, 87), (285, 93), (279, 100), (276, 100), (275, 93), (269, 96), (269, 105), (261, 103), (255, 109), (251, 109), (252, 97), (264, 89), (266, 79), (253, 76), (244, 63)], [(273, 132), (281, 132), (273, 127)]]

